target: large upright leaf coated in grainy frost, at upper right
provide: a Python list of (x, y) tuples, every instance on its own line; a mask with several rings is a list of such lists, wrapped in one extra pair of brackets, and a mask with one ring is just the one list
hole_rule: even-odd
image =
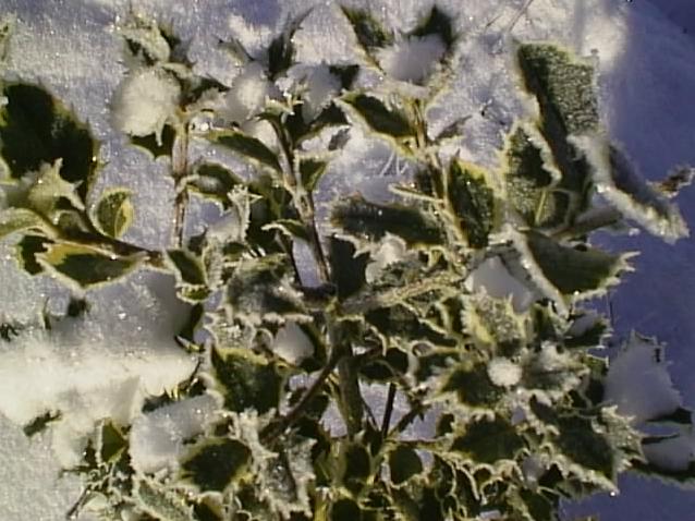
[[(594, 68), (548, 44), (524, 44), (517, 51), (526, 88), (540, 105), (545, 125), (559, 124), (564, 135), (598, 129)], [(552, 120), (552, 121), (550, 121)]]

